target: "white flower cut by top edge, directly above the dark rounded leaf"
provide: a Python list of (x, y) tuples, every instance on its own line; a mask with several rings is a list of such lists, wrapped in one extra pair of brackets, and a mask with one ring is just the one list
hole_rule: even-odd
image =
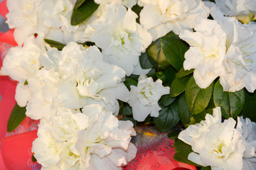
[(144, 6), (140, 16), (142, 27), (149, 30), (153, 40), (171, 30), (179, 34), (181, 30), (191, 30), (196, 26), (196, 18), (207, 18), (208, 8), (201, 0), (139, 0)]

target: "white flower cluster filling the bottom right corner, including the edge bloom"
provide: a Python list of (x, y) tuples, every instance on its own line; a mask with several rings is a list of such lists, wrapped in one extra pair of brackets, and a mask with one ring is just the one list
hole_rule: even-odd
[(188, 159), (211, 169), (255, 169), (256, 123), (239, 117), (221, 122), (220, 108), (213, 109), (213, 115), (206, 114), (206, 120), (190, 125), (181, 131), (178, 139), (191, 145), (193, 152)]

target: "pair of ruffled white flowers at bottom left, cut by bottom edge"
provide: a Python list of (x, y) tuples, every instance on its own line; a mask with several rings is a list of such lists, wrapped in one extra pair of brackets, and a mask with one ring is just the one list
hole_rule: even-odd
[(79, 111), (59, 108), (41, 119), (32, 152), (42, 169), (122, 169), (137, 148), (132, 122), (92, 104)]

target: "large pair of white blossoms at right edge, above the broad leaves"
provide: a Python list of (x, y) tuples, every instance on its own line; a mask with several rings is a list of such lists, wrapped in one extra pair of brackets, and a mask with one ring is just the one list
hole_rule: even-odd
[(181, 32), (180, 37), (191, 45), (185, 54), (184, 68), (195, 69), (194, 78), (201, 88), (220, 77), (224, 91), (239, 91), (243, 87), (255, 91), (255, 23), (241, 24), (223, 16), (215, 6), (210, 8), (210, 14), (215, 20), (201, 20), (195, 33)]

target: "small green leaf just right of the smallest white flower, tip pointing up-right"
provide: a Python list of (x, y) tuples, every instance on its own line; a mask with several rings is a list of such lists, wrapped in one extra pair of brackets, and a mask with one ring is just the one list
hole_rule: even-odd
[(171, 97), (176, 97), (183, 93), (186, 89), (186, 84), (188, 83), (188, 80), (191, 78), (190, 76), (187, 77), (181, 77), (176, 78), (174, 81), (172, 81), (170, 86), (170, 95)]

